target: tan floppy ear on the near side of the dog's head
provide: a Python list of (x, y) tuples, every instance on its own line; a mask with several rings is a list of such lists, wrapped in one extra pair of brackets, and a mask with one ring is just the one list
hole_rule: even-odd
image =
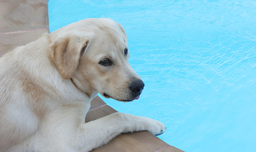
[(74, 75), (88, 44), (88, 39), (78, 36), (59, 38), (50, 44), (52, 59), (63, 79), (70, 79)]

